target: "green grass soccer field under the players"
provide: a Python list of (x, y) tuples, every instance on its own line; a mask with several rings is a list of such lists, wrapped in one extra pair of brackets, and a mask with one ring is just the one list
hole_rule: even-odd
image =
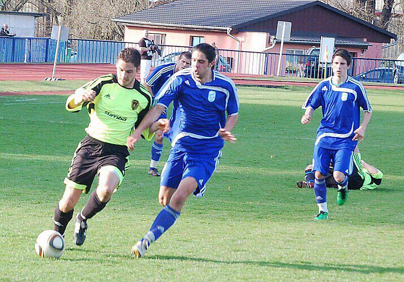
[[(19, 89), (37, 90), (27, 85)], [(64, 255), (40, 259), (35, 239), (53, 228), (88, 117), (65, 111), (66, 97), (0, 96), (0, 281), (402, 281), (404, 96), (369, 91), (374, 113), (360, 148), (384, 172), (381, 186), (350, 192), (343, 206), (329, 190), (330, 218), (316, 222), (313, 191), (295, 186), (311, 162), (321, 116), (319, 110), (311, 124), (300, 124), (309, 91), (239, 87), (237, 143), (226, 144), (205, 197), (190, 199), (142, 259), (131, 257), (131, 246), (161, 210), (159, 179), (146, 174), (151, 143), (132, 153), (120, 190), (89, 220), (85, 244), (73, 244), (69, 224)]]

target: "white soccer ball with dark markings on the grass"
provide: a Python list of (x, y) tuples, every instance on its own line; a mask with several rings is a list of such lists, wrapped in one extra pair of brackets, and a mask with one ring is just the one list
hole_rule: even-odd
[(45, 230), (35, 242), (35, 252), (41, 258), (59, 258), (65, 250), (63, 236), (55, 230)]

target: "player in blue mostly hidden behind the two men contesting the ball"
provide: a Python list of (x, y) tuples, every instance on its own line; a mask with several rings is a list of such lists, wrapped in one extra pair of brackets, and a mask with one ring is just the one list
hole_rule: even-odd
[[(153, 98), (157, 95), (161, 88), (168, 82), (168, 79), (177, 71), (188, 68), (191, 65), (191, 52), (185, 51), (180, 54), (176, 63), (167, 63), (158, 66), (151, 72), (146, 79), (146, 88), (149, 90)], [(167, 118), (166, 111), (160, 118)], [(151, 159), (148, 168), (148, 174), (153, 176), (160, 176), (157, 168), (161, 153), (163, 151), (163, 131), (157, 130), (155, 135), (155, 142), (151, 146)]]

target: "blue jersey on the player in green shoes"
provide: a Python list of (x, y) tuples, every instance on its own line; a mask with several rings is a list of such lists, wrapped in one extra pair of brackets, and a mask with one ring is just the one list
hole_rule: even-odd
[(316, 146), (337, 150), (354, 150), (354, 131), (360, 126), (361, 110), (372, 112), (362, 83), (348, 76), (346, 81), (335, 85), (332, 76), (321, 81), (310, 93), (302, 109), (321, 107), (323, 118), (317, 129)]

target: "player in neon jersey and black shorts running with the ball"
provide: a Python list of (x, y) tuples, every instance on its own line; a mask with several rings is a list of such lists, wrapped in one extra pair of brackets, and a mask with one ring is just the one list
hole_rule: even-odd
[[(87, 220), (104, 209), (121, 184), (129, 167), (126, 138), (151, 108), (150, 93), (135, 79), (139, 65), (139, 51), (126, 48), (118, 54), (116, 74), (100, 76), (84, 84), (67, 99), (69, 112), (87, 107), (90, 123), (85, 129), (87, 135), (74, 152), (64, 180), (65, 193), (55, 209), (55, 230), (63, 236), (81, 194), (89, 192), (98, 175), (96, 190), (76, 216), (76, 245), (84, 243)], [(168, 120), (159, 120), (145, 128), (142, 136), (150, 140), (154, 131), (164, 130), (166, 126), (169, 126)]]

